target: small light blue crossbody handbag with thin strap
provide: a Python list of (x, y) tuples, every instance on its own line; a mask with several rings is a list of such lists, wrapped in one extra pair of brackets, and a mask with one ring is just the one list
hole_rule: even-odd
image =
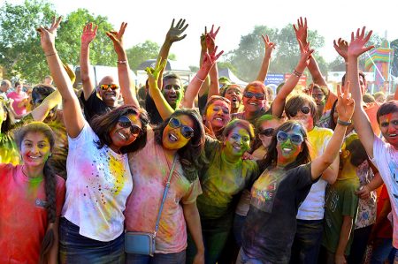
[(174, 156), (174, 159), (172, 161), (172, 170), (170, 170), (169, 177), (167, 178), (165, 191), (163, 192), (162, 202), (160, 203), (159, 212), (157, 213), (157, 224), (155, 226), (155, 231), (153, 233), (126, 232), (125, 233), (126, 253), (149, 255), (153, 257), (156, 250), (155, 238), (157, 237), (157, 230), (159, 228), (160, 215), (162, 215), (163, 205), (165, 204), (165, 198), (167, 196), (167, 192), (169, 191), (170, 181), (172, 179), (172, 171), (174, 170), (175, 167), (176, 157), (177, 155)]

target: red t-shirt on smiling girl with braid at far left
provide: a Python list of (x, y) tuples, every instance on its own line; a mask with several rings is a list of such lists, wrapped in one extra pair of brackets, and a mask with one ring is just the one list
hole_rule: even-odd
[[(0, 263), (39, 262), (47, 230), (43, 178), (29, 178), (21, 165), (0, 164)], [(65, 180), (57, 176), (57, 216), (65, 198)]]

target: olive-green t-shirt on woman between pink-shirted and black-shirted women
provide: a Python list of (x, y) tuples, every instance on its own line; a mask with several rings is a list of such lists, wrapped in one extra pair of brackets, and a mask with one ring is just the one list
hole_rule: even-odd
[(256, 162), (227, 162), (222, 143), (206, 137), (204, 155), (209, 164), (199, 171), (203, 194), (196, 203), (202, 219), (216, 219), (234, 211), (239, 194), (249, 188), (259, 175)]

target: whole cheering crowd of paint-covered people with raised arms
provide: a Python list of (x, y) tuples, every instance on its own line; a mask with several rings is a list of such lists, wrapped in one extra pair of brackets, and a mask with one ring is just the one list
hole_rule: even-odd
[[(277, 43), (266, 35), (246, 87), (218, 76), (214, 26), (187, 87), (164, 74), (185, 19), (172, 20), (139, 90), (127, 24), (107, 32), (118, 76), (96, 86), (88, 69), (97, 26), (88, 23), (76, 91), (55, 45), (60, 22), (37, 29), (45, 83), (29, 94), (1, 83), (0, 263), (398, 261), (398, 92), (365, 96), (358, 57), (373, 48), (371, 31), (334, 41), (346, 62), (334, 94), (298, 19), (300, 58), (272, 96), (264, 80)], [(305, 69), (312, 83), (301, 89)], [(154, 252), (134, 244), (137, 234), (149, 234)]]

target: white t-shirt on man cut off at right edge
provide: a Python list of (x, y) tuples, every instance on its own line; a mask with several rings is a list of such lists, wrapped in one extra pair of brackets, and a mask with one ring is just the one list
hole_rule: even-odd
[(378, 137), (373, 141), (373, 159), (387, 187), (393, 214), (393, 246), (398, 248), (398, 150)]

